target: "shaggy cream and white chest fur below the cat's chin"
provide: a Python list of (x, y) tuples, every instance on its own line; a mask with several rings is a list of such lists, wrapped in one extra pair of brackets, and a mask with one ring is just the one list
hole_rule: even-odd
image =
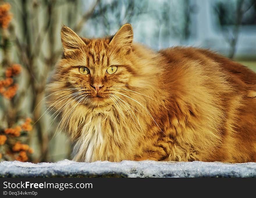
[(81, 111), (80, 114), (81, 122), (79, 123), (81, 124), (74, 129), (77, 130), (80, 125), (82, 126), (73, 150), (74, 160), (81, 162), (109, 159), (120, 161), (124, 155), (127, 156), (124, 153), (134, 153), (134, 147), (131, 145), (136, 144), (138, 136), (143, 136), (143, 133), (141, 131), (138, 133), (140, 125), (132, 122), (129, 111), (122, 115), (111, 108), (98, 111), (94, 109), (86, 114), (82, 112), (85, 111)]

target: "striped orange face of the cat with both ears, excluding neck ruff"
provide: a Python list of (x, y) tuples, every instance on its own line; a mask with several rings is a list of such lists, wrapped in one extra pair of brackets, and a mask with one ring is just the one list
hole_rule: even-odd
[(113, 101), (113, 87), (129, 84), (134, 75), (130, 24), (123, 25), (112, 37), (99, 39), (81, 38), (63, 26), (61, 41), (64, 54), (55, 68), (55, 79), (68, 92), (78, 93), (80, 102), (92, 106), (109, 104)]

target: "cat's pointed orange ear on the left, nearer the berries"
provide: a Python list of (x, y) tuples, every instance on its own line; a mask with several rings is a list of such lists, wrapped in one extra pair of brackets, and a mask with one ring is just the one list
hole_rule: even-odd
[(81, 49), (85, 45), (83, 40), (67, 26), (61, 28), (61, 42), (64, 48), (64, 54), (71, 50)]

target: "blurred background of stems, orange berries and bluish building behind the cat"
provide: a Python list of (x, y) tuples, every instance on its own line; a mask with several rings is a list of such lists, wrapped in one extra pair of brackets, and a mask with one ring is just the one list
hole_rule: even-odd
[(127, 22), (134, 41), (155, 50), (212, 49), (256, 72), (255, 0), (0, 1), (0, 161), (70, 159), (71, 142), (44, 92), (62, 54), (61, 26), (90, 38)]

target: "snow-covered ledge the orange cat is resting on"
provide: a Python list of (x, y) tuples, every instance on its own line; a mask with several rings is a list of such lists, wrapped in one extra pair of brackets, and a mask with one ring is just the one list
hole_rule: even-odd
[(0, 177), (256, 177), (256, 163), (97, 161), (0, 162)]

